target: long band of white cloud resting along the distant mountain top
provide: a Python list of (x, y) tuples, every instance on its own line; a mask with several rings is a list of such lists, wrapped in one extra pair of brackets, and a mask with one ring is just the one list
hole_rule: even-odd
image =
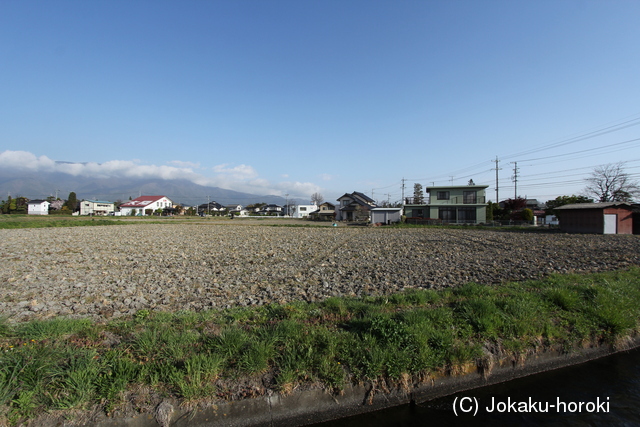
[(213, 167), (213, 176), (194, 172), (199, 164), (183, 161), (167, 162), (172, 165), (144, 165), (138, 160), (111, 160), (105, 163), (65, 163), (56, 162), (46, 156), (37, 157), (26, 151), (4, 151), (0, 153), (0, 168), (19, 169), (33, 172), (59, 172), (73, 176), (97, 178), (147, 178), (186, 179), (203, 186), (221, 187), (252, 194), (279, 195), (308, 198), (322, 189), (309, 182), (273, 183), (260, 178), (250, 165), (230, 166), (228, 163)]

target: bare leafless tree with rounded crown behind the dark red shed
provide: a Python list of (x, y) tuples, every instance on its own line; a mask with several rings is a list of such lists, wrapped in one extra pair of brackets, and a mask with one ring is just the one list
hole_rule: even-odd
[(640, 194), (638, 181), (625, 172), (622, 162), (598, 166), (585, 181), (584, 192), (599, 202), (630, 202)]

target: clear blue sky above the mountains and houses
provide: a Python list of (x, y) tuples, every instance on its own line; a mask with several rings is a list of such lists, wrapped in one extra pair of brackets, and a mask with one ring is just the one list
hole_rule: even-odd
[(600, 164), (640, 177), (638, 22), (622, 0), (0, 0), (0, 167), (495, 200), (497, 156), (501, 199), (511, 162), (520, 196), (577, 194)]

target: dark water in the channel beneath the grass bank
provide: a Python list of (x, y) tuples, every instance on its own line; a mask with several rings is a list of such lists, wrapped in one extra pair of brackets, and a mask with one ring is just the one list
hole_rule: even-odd
[[(473, 415), (476, 401), (478, 410)], [(457, 404), (458, 416), (454, 413), (454, 404)], [(463, 410), (471, 411), (464, 413)], [(544, 410), (548, 412), (540, 412)], [(418, 405), (316, 424), (318, 427), (360, 425), (640, 425), (640, 349)]]

